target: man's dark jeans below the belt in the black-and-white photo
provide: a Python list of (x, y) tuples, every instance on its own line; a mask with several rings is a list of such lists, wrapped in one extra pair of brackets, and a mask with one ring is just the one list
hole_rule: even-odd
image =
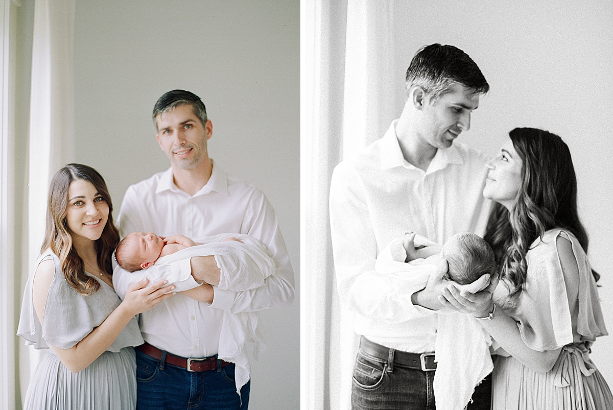
[[(360, 351), (353, 368), (351, 408), (353, 410), (435, 410), (432, 387), (436, 371), (422, 371), (388, 363)], [(390, 371), (391, 370), (391, 371)], [(492, 375), (478, 385), (468, 410), (490, 410)]]

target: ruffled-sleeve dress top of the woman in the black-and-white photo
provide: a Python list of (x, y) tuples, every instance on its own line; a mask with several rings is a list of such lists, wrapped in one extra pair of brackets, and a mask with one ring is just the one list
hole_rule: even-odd
[[(570, 289), (566, 284), (556, 245), (558, 236), (572, 244), (579, 268), (579, 289)], [(542, 240), (537, 239), (531, 246), (527, 263), (525, 289), (516, 308), (509, 313), (516, 318), (528, 347), (549, 351), (580, 341), (589, 346), (596, 337), (607, 335), (592, 270), (572, 233), (562, 229), (547, 231)], [(571, 312), (567, 295), (575, 293), (577, 308)]]

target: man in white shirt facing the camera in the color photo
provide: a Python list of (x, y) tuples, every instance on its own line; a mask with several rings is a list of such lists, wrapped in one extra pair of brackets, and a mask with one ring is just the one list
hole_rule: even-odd
[[(246, 409), (245, 343), (258, 340), (251, 312), (287, 306), (294, 299), (294, 273), (276, 214), (259, 189), (226, 175), (209, 158), (213, 124), (198, 96), (169, 91), (156, 102), (153, 121), (170, 169), (128, 188), (119, 214), (121, 236), (152, 231), (202, 241), (245, 233), (267, 246), (276, 271), (262, 287), (232, 292), (211, 286), (219, 283), (214, 256), (194, 257), (167, 271), (149, 268), (150, 279), (164, 277), (177, 290), (196, 290), (189, 294), (194, 299), (178, 293), (140, 316), (146, 343), (137, 348), (137, 408)], [(242, 267), (240, 257), (237, 267)], [(113, 276), (120, 296), (140, 279), (121, 268)], [(205, 283), (199, 286), (196, 279)]]

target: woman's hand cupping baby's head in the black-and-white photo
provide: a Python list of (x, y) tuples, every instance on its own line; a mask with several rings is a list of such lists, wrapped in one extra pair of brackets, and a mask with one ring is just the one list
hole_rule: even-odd
[(465, 286), (450, 282), (446, 289), (443, 289), (443, 295), (438, 297), (439, 302), (446, 308), (455, 309), (460, 313), (473, 314), (475, 317), (487, 316), (492, 310), (492, 295), (498, 286), (498, 274), (494, 273), (491, 281), (487, 278), (485, 287), (483, 287), (484, 276), (489, 275), (483, 275)]

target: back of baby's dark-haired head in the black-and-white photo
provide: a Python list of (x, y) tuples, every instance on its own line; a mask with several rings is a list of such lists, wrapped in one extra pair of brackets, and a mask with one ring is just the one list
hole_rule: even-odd
[(496, 270), (492, 248), (474, 233), (452, 236), (443, 245), (441, 255), (447, 259), (450, 279), (461, 285), (473, 283), (481, 275)]

